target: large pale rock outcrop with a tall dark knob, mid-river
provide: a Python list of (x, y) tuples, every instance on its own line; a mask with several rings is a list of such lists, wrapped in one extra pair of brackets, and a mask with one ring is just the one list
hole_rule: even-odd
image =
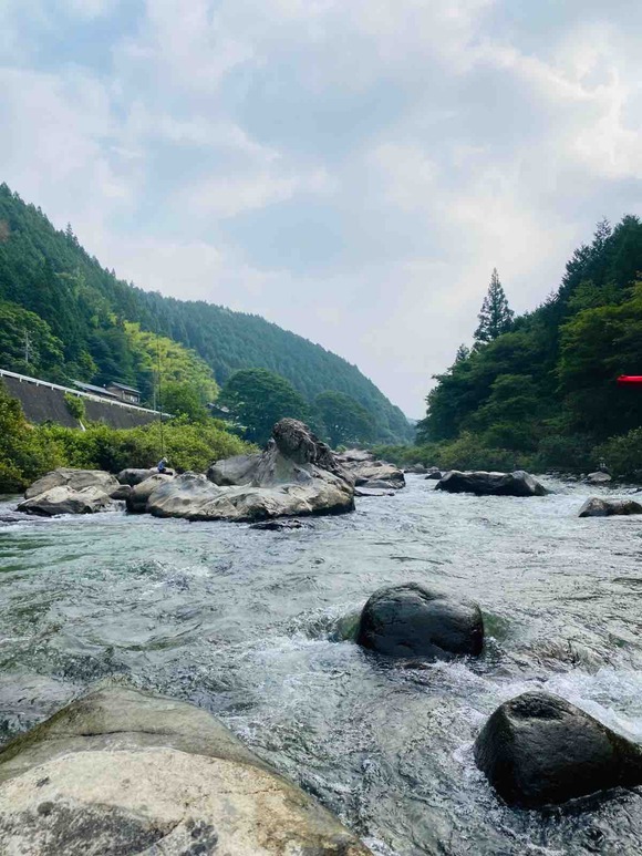
[(249, 471), (238, 460), (229, 467), (222, 464), (216, 464), (216, 477), (226, 473), (230, 481), (236, 472), (240, 484), (219, 485), (197, 473), (184, 473), (144, 497), (143, 489), (152, 486), (153, 476), (134, 488), (127, 507), (189, 520), (266, 520), (354, 508), (352, 479), (332, 451), (297, 420), (283, 419), (275, 425), (265, 452), (250, 462), (251, 481), (246, 481)]

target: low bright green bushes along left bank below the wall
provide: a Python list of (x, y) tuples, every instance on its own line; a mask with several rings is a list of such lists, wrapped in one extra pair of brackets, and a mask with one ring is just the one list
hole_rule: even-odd
[(128, 466), (153, 466), (164, 453), (179, 471), (203, 472), (213, 461), (252, 450), (216, 420), (206, 424), (172, 420), (163, 425), (163, 440), (157, 422), (127, 430), (103, 424), (89, 425), (86, 431), (32, 426), (0, 383), (0, 492), (22, 491), (58, 466), (117, 473)]

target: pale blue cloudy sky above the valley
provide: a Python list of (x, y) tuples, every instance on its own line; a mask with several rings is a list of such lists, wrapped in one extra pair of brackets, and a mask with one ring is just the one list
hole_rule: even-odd
[(0, 181), (146, 289), (265, 316), (408, 416), (642, 214), (634, 0), (2, 0)]

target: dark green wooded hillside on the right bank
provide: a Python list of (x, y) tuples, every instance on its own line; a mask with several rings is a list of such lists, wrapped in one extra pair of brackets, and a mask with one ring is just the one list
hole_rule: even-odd
[(642, 471), (642, 394), (615, 382), (642, 374), (641, 271), (642, 223), (599, 224), (538, 309), (459, 349), (427, 396), (420, 443), (558, 467), (627, 448), (623, 468)]

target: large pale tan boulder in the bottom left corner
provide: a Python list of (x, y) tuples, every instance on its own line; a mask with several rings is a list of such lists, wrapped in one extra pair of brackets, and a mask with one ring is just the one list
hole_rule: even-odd
[(339, 821), (185, 702), (112, 687), (0, 752), (3, 853), (370, 853)]

